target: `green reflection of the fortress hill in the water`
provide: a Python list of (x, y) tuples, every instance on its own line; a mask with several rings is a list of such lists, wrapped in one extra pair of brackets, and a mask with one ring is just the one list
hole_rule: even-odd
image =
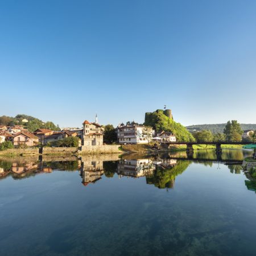
[(158, 188), (172, 188), (174, 187), (175, 177), (184, 172), (191, 162), (181, 160), (177, 162), (174, 167), (166, 170), (160, 168), (156, 169), (154, 174), (146, 177), (147, 184), (154, 184)]

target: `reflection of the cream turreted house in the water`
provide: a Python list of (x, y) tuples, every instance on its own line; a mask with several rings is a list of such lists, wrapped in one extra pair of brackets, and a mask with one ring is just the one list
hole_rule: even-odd
[(81, 162), (80, 175), (82, 177), (82, 184), (85, 186), (101, 179), (102, 174), (104, 174), (103, 161), (86, 160)]

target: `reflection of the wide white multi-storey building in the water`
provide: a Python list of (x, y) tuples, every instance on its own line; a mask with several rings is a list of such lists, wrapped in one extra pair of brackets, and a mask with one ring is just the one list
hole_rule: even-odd
[(152, 174), (155, 165), (151, 159), (123, 159), (117, 165), (118, 175), (142, 177)]

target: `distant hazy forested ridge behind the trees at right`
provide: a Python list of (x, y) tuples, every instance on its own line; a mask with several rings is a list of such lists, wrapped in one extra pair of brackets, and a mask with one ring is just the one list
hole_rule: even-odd
[[(256, 124), (253, 123), (241, 123), (242, 130), (256, 130)], [(186, 128), (191, 132), (210, 130), (213, 134), (223, 133), (226, 123), (217, 123), (211, 125), (189, 125)]]

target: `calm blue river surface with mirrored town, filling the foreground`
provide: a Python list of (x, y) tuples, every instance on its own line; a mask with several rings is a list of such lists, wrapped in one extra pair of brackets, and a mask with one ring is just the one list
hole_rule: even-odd
[(256, 255), (247, 154), (0, 158), (0, 255)]

